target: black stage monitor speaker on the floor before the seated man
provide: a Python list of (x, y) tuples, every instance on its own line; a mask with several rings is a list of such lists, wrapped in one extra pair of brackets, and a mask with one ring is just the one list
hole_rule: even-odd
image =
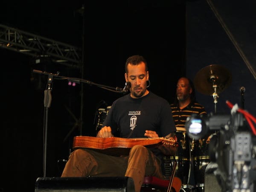
[(35, 192), (134, 192), (131, 177), (38, 177)]

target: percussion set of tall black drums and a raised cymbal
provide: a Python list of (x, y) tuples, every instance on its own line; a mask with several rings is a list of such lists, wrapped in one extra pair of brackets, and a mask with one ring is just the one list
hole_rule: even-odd
[[(198, 92), (213, 96), (216, 113), (218, 94), (229, 87), (231, 81), (231, 73), (225, 67), (209, 65), (196, 73), (194, 85)], [(174, 157), (164, 157), (165, 169), (166, 166), (169, 166), (169, 163), (172, 167), (174, 161), (176, 161), (175, 176), (182, 181), (181, 191), (204, 192), (204, 172), (210, 163), (208, 145), (211, 136), (208, 135), (200, 140), (194, 140), (186, 134), (186, 131), (181, 131), (178, 128), (175, 135), (179, 144), (177, 154), (175, 160)]]

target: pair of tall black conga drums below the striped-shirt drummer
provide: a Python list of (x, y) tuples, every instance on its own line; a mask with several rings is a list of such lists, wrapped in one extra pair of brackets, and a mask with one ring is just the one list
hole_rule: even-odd
[[(208, 156), (210, 137), (194, 140), (186, 134), (186, 131), (176, 131), (175, 136), (179, 147), (175, 157), (164, 157), (165, 177), (168, 178), (176, 161), (175, 176), (182, 181), (180, 191), (204, 192), (204, 170), (210, 161)], [(195, 178), (195, 185), (190, 183), (190, 177)]]

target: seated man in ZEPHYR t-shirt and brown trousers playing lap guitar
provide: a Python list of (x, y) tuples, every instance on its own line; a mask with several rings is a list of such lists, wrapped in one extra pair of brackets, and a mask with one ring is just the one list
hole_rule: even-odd
[[(113, 102), (97, 137), (157, 138), (174, 141), (176, 131), (169, 103), (147, 90), (148, 66), (140, 55), (125, 63), (125, 81), (131, 82), (130, 94)], [(163, 154), (173, 154), (170, 145), (148, 148), (134, 145), (128, 155), (111, 156), (90, 149), (76, 149), (70, 154), (61, 177), (131, 177), (140, 192), (145, 176), (163, 179)]]

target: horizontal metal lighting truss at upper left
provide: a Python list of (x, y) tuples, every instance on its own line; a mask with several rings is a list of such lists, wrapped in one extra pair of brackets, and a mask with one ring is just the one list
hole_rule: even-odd
[(68, 67), (80, 69), (82, 65), (81, 49), (1, 24), (0, 47)]

